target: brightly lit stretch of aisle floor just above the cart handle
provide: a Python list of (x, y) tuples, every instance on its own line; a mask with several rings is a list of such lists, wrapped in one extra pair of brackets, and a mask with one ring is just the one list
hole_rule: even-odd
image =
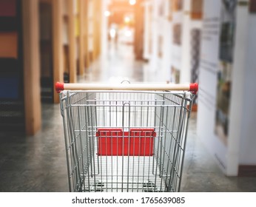
[(131, 82), (157, 81), (150, 74), (150, 65), (135, 61), (133, 53), (131, 44), (110, 42), (107, 53), (92, 64), (89, 74), (86, 78), (80, 78), (80, 82), (120, 83), (127, 79)]

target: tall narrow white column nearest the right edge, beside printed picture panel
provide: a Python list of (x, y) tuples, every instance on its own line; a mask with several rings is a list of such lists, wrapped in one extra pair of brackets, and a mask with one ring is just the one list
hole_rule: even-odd
[(237, 9), (232, 97), (230, 106), (229, 139), (226, 174), (238, 175), (240, 139), (243, 139), (243, 92), (245, 85), (246, 49), (248, 47), (248, 7)]

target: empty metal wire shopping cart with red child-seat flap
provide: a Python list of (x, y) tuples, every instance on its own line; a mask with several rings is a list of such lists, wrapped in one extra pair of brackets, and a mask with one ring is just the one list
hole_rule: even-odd
[(197, 84), (57, 83), (56, 90), (70, 191), (180, 191)]

